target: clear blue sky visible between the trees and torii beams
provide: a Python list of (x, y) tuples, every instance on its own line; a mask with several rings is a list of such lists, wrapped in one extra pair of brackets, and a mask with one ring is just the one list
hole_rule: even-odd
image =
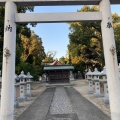
[[(34, 13), (49, 12), (76, 12), (82, 6), (40, 6), (35, 7)], [(112, 13), (120, 15), (120, 5), (111, 6)], [(56, 51), (55, 58), (65, 57), (67, 45), (69, 44), (69, 24), (67, 23), (38, 23), (36, 27), (31, 27), (35, 34), (42, 38), (45, 52)]]

